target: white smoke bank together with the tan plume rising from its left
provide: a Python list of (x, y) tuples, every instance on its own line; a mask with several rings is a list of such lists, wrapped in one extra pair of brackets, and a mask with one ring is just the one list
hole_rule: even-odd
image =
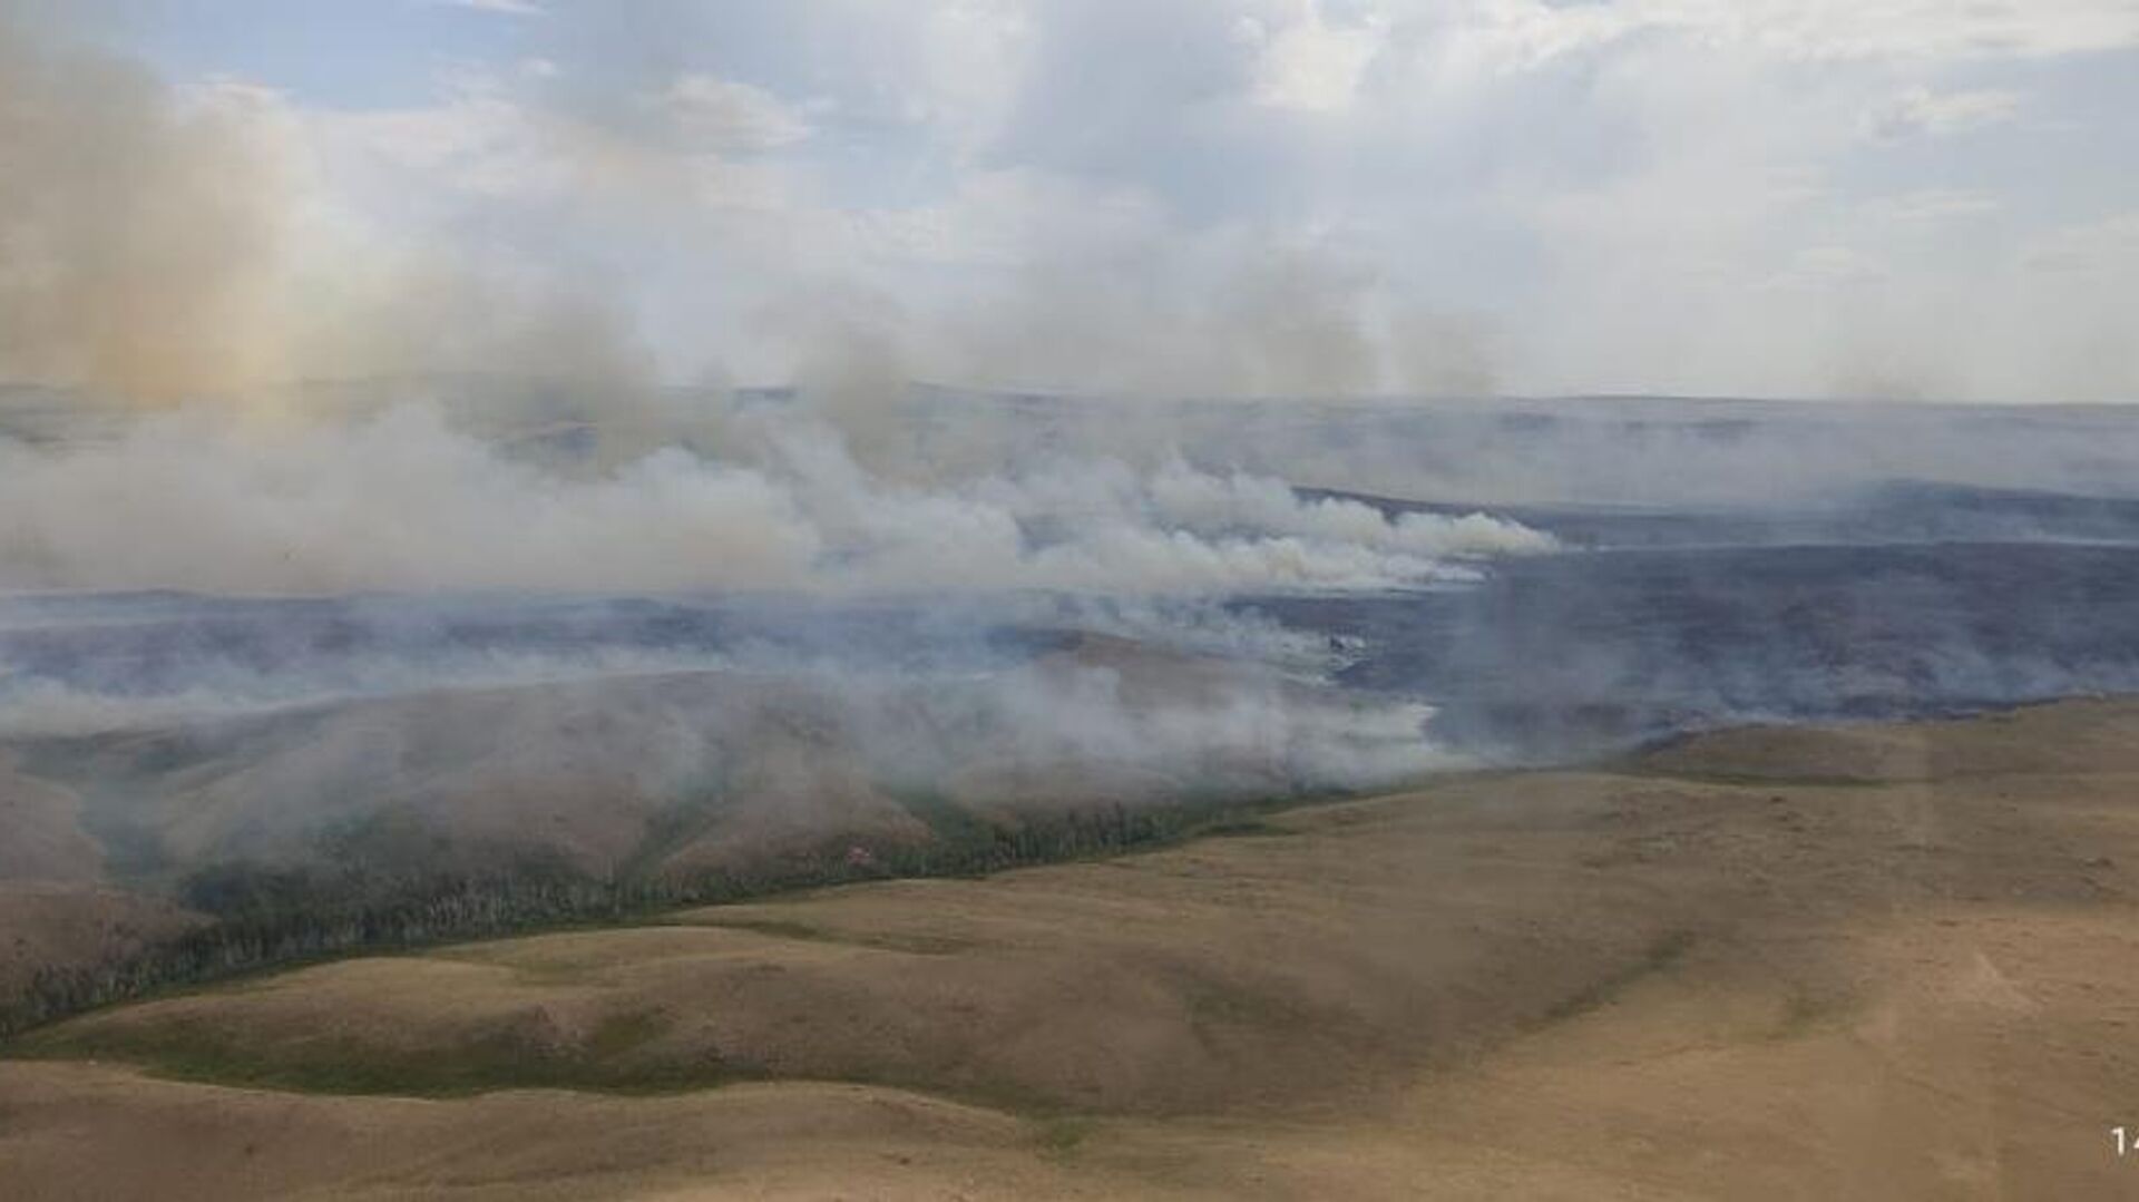
[[(847, 445), (817, 417), (727, 430), (719, 398), (655, 411), (599, 284), (556, 293), (541, 272), (456, 272), (432, 248), (366, 261), (361, 240), (338, 242), (306, 212), (306, 165), (272, 103), (235, 86), (175, 94), (107, 56), (36, 45), (4, 11), (0, 64), (0, 163), (32, 184), (0, 199), (0, 370), (205, 411), (98, 445), (0, 443), (0, 586), (1219, 592), (1422, 584), (1450, 573), (1446, 556), (1546, 545), (1489, 518), (1301, 503), (1179, 460), (1144, 479), (1091, 462), (935, 492), (886, 483), (856, 458), (905, 364), (890, 353), (856, 370), (866, 329), (819, 325), (813, 361), (847, 366), (804, 366), (824, 381), (811, 413)], [(1322, 364), (1311, 374), (1354, 357), (1341, 319), (1311, 304), (1271, 289), (1241, 304), (1283, 308), (1271, 321), (1296, 329), (1243, 338), (1241, 355), (1296, 353)], [(438, 370), (548, 381), (582, 419), (646, 430), (584, 479), (419, 409), (308, 413), (287, 387)], [(284, 421), (244, 428), (216, 415), (229, 402)], [(693, 447), (650, 449), (678, 428)]]

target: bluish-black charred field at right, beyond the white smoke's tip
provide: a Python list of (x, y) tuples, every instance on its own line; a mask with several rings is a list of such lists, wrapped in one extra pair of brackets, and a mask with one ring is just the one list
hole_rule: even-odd
[(1343, 684), (1431, 702), (1437, 738), (1519, 761), (2139, 684), (2130, 545), (1600, 550), (1497, 565), (1465, 590), (1253, 607), (1354, 642)]

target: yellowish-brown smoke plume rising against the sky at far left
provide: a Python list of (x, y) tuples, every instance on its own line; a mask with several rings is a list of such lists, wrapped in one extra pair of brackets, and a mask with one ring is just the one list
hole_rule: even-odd
[(0, 372), (128, 398), (287, 370), (280, 163), (242, 92), (34, 45), (0, 11)]

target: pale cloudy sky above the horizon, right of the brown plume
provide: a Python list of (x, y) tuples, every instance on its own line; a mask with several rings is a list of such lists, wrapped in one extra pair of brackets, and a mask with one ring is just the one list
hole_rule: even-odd
[(135, 62), (145, 103), (244, 139), (265, 169), (229, 186), (274, 190), (274, 312), (366, 291), (404, 329), (539, 310), (458, 366), (2139, 400), (2139, 0), (0, 0), (0, 19), (39, 53)]

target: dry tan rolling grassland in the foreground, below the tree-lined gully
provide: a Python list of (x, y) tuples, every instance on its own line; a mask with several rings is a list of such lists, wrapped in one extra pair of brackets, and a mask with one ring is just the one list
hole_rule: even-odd
[(2111, 1198), (2139, 704), (1692, 738), (374, 956), (0, 1063), (9, 1198)]

